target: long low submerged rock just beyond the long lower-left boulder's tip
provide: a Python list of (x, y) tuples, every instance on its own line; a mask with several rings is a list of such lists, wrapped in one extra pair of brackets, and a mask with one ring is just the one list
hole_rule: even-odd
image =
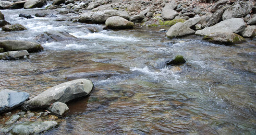
[(120, 73), (116, 71), (94, 71), (94, 72), (73, 73), (66, 76), (65, 78), (67, 80), (83, 79), (83, 78), (108, 79), (111, 76), (117, 76), (117, 75), (120, 75)]

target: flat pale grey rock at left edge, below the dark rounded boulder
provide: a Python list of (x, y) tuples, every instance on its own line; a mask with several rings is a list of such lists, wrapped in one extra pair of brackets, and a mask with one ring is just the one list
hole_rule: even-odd
[(0, 59), (4, 60), (23, 58), (24, 56), (29, 56), (29, 53), (26, 50), (0, 53)]

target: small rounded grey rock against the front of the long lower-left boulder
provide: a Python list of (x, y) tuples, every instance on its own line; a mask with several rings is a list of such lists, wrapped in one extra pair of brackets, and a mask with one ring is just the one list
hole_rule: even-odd
[(53, 104), (51, 104), (47, 110), (49, 112), (52, 112), (54, 115), (58, 116), (58, 117), (62, 117), (64, 116), (67, 112), (69, 112), (69, 108), (67, 106), (67, 104), (57, 101), (54, 102)]

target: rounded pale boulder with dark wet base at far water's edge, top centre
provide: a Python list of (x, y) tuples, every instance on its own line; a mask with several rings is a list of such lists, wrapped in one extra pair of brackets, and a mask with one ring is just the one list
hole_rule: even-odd
[(134, 27), (134, 22), (130, 22), (119, 16), (112, 16), (105, 22), (110, 29), (129, 29)]

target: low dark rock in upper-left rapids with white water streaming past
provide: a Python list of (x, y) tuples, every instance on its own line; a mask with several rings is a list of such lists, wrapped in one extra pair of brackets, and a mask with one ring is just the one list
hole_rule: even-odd
[(55, 41), (75, 40), (75, 39), (76, 37), (74, 37), (71, 34), (58, 32), (58, 31), (49, 31), (36, 36), (36, 40), (38, 42), (48, 42), (48, 43), (55, 42)]

